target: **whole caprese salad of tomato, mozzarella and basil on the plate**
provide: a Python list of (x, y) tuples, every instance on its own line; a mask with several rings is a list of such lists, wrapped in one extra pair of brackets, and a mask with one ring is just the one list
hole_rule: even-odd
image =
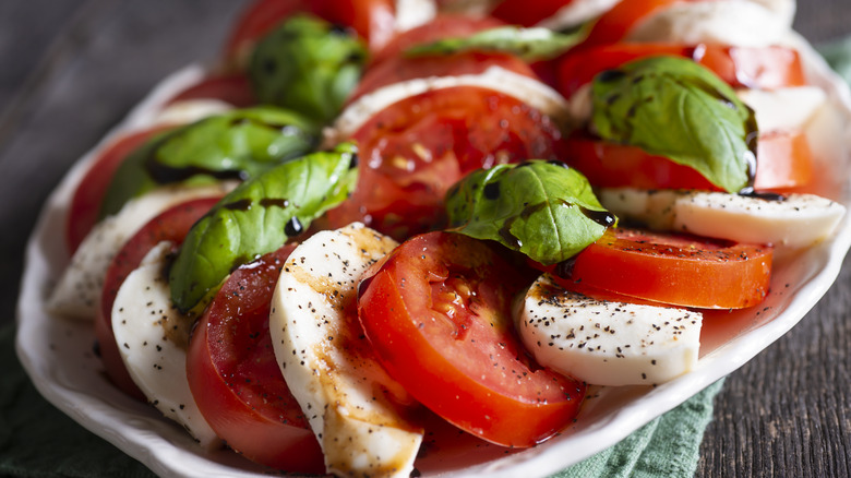
[(828, 238), (786, 0), (259, 0), (220, 64), (104, 147), (56, 315), (200, 446), (410, 476), (586, 386), (692, 370)]

